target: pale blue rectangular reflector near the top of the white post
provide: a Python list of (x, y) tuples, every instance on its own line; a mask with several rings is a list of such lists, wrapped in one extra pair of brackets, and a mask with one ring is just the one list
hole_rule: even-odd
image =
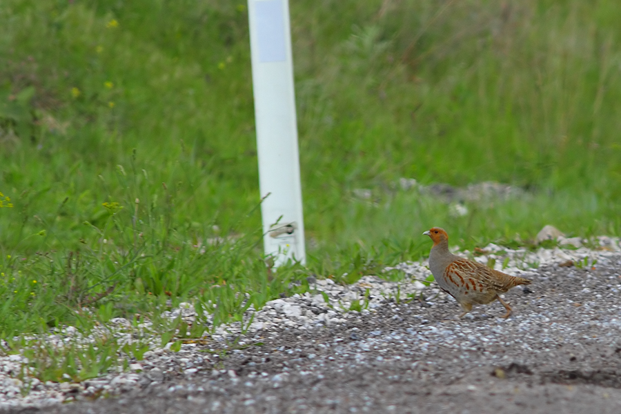
[(260, 63), (286, 59), (283, 14), (282, 0), (255, 1)]

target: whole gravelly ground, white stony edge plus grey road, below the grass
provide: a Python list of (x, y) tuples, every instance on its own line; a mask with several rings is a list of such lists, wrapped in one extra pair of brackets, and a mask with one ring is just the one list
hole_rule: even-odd
[[(497, 303), (455, 319), (455, 300), (420, 282), (430, 274), (420, 262), (395, 266), (406, 273), (398, 283), (316, 280), (311, 292), (268, 302), (244, 334), (222, 326), (178, 352), (154, 342), (129, 371), (80, 384), (34, 384), (23, 396), (23, 356), (5, 355), (0, 411), (618, 413), (621, 248), (607, 237), (594, 245), (477, 251), (533, 280), (504, 295), (509, 319)], [(179, 315), (195, 317), (189, 304), (168, 316)], [(114, 324), (130, 340), (128, 322)], [(77, 335), (68, 327), (48, 339)]]

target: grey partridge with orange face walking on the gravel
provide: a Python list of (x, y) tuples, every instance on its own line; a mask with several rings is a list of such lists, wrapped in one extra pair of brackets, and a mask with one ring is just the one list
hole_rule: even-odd
[(429, 254), (429, 269), (437, 284), (462, 305), (463, 317), (472, 310), (473, 304), (489, 304), (495, 301), (504, 306), (506, 314), (511, 315), (511, 306), (499, 296), (521, 284), (531, 284), (529, 279), (507, 275), (469, 259), (453, 255), (449, 251), (449, 235), (439, 227), (427, 230), (433, 240)]

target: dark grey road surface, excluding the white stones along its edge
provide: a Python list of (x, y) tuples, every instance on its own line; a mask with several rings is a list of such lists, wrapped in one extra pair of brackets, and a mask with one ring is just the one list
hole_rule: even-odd
[[(191, 377), (12, 413), (621, 413), (621, 258), (540, 268), (461, 320), (452, 298), (255, 335)], [(216, 368), (216, 369), (212, 369)]]

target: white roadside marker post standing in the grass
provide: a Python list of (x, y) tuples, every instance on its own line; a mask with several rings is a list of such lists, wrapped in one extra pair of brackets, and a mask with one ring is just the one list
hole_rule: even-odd
[(304, 263), (288, 0), (248, 0), (265, 253)]

